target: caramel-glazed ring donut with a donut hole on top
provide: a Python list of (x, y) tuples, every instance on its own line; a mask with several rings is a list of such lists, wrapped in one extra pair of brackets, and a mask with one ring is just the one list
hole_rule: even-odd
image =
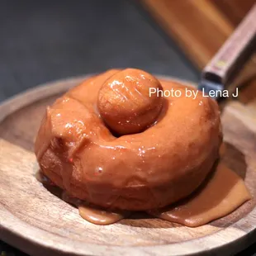
[[(182, 94), (148, 97), (149, 88)], [(88, 78), (46, 109), (35, 144), (41, 171), (110, 209), (146, 211), (187, 197), (211, 171), (222, 133), (217, 103), (185, 90), (137, 69)]]

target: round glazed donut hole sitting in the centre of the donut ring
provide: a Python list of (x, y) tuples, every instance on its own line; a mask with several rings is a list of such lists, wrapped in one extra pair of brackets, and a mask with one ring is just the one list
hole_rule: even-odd
[(106, 122), (118, 135), (145, 130), (157, 120), (164, 97), (151, 93), (163, 88), (159, 80), (140, 69), (118, 71), (102, 84), (97, 107)]

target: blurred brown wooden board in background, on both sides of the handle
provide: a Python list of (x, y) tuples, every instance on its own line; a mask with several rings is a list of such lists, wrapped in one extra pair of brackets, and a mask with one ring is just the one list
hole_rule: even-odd
[[(164, 31), (203, 69), (224, 44), (255, 3), (255, 0), (140, 0)], [(247, 103), (256, 99), (256, 55), (244, 65), (231, 90), (242, 88), (240, 99)]]

